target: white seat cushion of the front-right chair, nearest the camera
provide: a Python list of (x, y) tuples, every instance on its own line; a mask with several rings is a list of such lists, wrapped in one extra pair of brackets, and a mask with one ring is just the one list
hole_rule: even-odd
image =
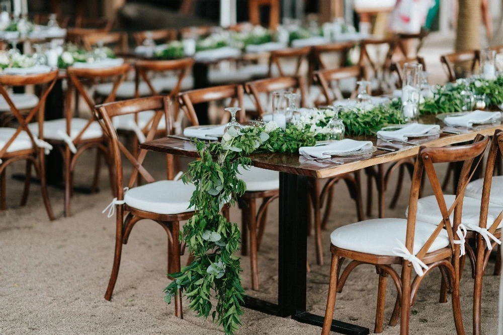
[[(430, 238), (435, 226), (415, 222), (413, 255), (416, 255)], [(398, 247), (396, 239), (405, 245), (407, 220), (403, 218), (375, 218), (340, 227), (330, 234), (331, 243), (339, 248), (379, 256), (396, 256), (392, 249)], [(428, 252), (449, 246), (449, 236), (442, 230)]]

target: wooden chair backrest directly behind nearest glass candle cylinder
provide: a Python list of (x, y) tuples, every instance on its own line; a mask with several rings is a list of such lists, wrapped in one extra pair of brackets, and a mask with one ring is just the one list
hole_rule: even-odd
[[(249, 81), (244, 84), (244, 88), (248, 95), (253, 96), (258, 117), (262, 117), (267, 110), (268, 106), (263, 104), (261, 100), (261, 93), (266, 93), (268, 96), (274, 91), (292, 91), (300, 94), (300, 106), (306, 106), (307, 90), (304, 79), (302, 76), (290, 76), (279, 78), (268, 78), (255, 81)], [(269, 96), (269, 101), (271, 101)]]

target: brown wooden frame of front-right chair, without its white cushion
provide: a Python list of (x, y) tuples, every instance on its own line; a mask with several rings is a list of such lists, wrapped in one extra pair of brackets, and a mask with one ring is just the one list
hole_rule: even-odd
[[(430, 184), (433, 187), (435, 197), (437, 199), (442, 220), (437, 228), (429, 237), (425, 245), (415, 255), (417, 259), (428, 265), (425, 275), (434, 268), (439, 268), (442, 273), (442, 278), (445, 283), (449, 283), (449, 288), (452, 292), (452, 305), (454, 313), (454, 322), (458, 335), (464, 334), (463, 322), (461, 319), (461, 307), (459, 301), (459, 255), (460, 246), (455, 241), (459, 241), (459, 237), (454, 234), (461, 223), (461, 209), (463, 206), (464, 191), (466, 185), (473, 177), (476, 167), (483, 158), (483, 154), (489, 143), (488, 137), (477, 136), (474, 143), (464, 146), (445, 147), (445, 148), (426, 148), (421, 147), (416, 157), (414, 174), (409, 197), (409, 207), (407, 215), (407, 228), (405, 236), (405, 248), (408, 253), (412, 253), (414, 244), (415, 221), (417, 214), (417, 201), (420, 194), (423, 176), (428, 175)], [(447, 163), (451, 161), (463, 161), (463, 168), (459, 179), (458, 189), (454, 203), (449, 208), (446, 205), (442, 188), (435, 171), (434, 164)], [(474, 164), (476, 161), (476, 164)], [(473, 165), (475, 167), (473, 168)], [(426, 172), (426, 173), (425, 173)], [(453, 225), (450, 221), (450, 214), (454, 211)], [(450, 245), (435, 252), (428, 253), (428, 250), (439, 236), (440, 232), (445, 229), (449, 236)], [(374, 265), (379, 274), (378, 301), (376, 312), (376, 324), (374, 332), (382, 331), (384, 318), (384, 301), (386, 292), (386, 277), (389, 275), (397, 288), (397, 299), (393, 314), (391, 316), (390, 325), (394, 326), (398, 322), (400, 315), (400, 334), (408, 334), (408, 323), (410, 306), (413, 304), (417, 290), (424, 276), (416, 275), (411, 283), (412, 266), (411, 262), (399, 256), (379, 256), (368, 253), (356, 252), (338, 248), (334, 245), (330, 246), (332, 253), (332, 261), (330, 266), (330, 284), (328, 289), (328, 299), (323, 322), (322, 335), (328, 335), (330, 325), (333, 318), (333, 310), (336, 302), (337, 292), (341, 292), (351, 271), (360, 264)], [(339, 272), (344, 259), (351, 259), (351, 263), (345, 268), (341, 276)], [(392, 264), (400, 264), (402, 266), (401, 276), (391, 267)]]

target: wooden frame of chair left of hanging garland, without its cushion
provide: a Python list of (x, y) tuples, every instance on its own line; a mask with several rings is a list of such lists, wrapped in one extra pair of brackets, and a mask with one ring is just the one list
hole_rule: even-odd
[[(133, 172), (128, 181), (128, 187), (133, 187), (140, 176), (147, 182), (151, 183), (154, 178), (143, 167), (143, 161), (147, 154), (147, 150), (141, 149), (137, 156), (129, 152), (126, 147), (119, 141), (117, 132), (113, 126), (112, 118), (128, 115), (138, 114), (146, 110), (155, 110), (155, 117), (151, 123), (150, 129), (147, 133), (147, 141), (154, 138), (159, 121), (162, 115), (165, 116), (166, 129), (171, 129), (170, 123), (170, 105), (171, 99), (168, 96), (152, 96), (146, 98), (138, 98), (131, 100), (123, 100), (111, 103), (105, 103), (96, 106), (94, 109), (95, 118), (98, 120), (103, 128), (104, 133), (110, 139), (111, 156), (115, 165), (115, 193), (117, 199), (124, 200), (123, 186), (123, 171), (121, 153), (133, 165)], [(170, 167), (169, 167), (170, 168)], [(143, 219), (151, 219), (157, 222), (167, 233), (168, 251), (167, 251), (167, 272), (176, 273), (180, 272), (180, 256), (184, 254), (185, 245), (180, 243), (180, 221), (188, 220), (194, 212), (185, 212), (179, 214), (158, 214), (139, 210), (129, 207), (127, 204), (114, 204), (117, 206), (116, 216), (116, 239), (115, 239), (115, 253), (112, 274), (105, 293), (105, 299), (111, 300), (114, 291), (117, 276), (119, 274), (119, 267), (122, 255), (122, 245), (127, 244), (129, 235), (133, 226)], [(173, 279), (173, 278), (172, 278)], [(182, 292), (179, 290), (175, 296), (175, 316), (183, 318), (182, 310)]]

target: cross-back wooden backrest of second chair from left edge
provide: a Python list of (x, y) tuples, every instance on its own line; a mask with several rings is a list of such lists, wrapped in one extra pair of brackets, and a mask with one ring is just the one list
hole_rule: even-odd
[[(96, 101), (89, 93), (88, 89), (86, 89), (86, 85), (91, 83), (91, 85), (99, 80), (112, 80), (114, 83), (110, 94), (100, 101), (102, 103), (115, 101), (115, 95), (117, 93), (117, 88), (119, 88), (120, 84), (125, 80), (127, 73), (129, 72), (131, 66), (129, 64), (123, 64), (116, 67), (111, 68), (103, 68), (103, 69), (79, 69), (70, 66), (66, 69), (66, 73), (68, 75), (68, 88), (66, 90), (66, 99), (65, 99), (65, 119), (66, 119), (66, 134), (70, 136), (71, 130), (71, 101), (74, 95), (74, 90), (76, 90), (80, 96), (86, 101), (91, 113), (96, 107)], [(77, 143), (82, 134), (86, 132), (86, 130), (93, 123), (93, 118), (89, 120), (85, 127), (82, 128), (80, 133), (72, 140), (75, 144)], [(73, 138), (73, 137), (71, 137)]]

